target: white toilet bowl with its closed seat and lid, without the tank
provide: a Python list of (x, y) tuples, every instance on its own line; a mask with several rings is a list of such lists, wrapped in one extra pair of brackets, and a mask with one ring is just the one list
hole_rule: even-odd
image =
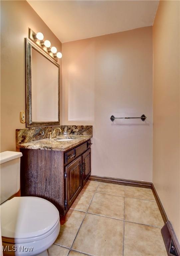
[[(57, 208), (39, 197), (14, 197), (0, 206), (2, 243), (33, 247), (33, 252), (16, 255), (38, 255), (48, 249), (60, 231)], [(11, 255), (6, 252), (5, 255)]]

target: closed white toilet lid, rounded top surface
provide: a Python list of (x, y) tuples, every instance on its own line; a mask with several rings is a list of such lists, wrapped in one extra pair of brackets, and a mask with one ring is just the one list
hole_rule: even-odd
[(14, 197), (1, 205), (1, 235), (30, 238), (45, 234), (57, 223), (58, 209), (40, 197)]

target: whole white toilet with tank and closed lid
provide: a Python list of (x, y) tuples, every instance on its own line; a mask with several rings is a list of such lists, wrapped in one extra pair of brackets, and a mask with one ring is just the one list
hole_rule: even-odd
[(14, 197), (20, 189), (22, 153), (0, 153), (3, 255), (48, 255), (60, 231), (57, 208), (40, 197)]

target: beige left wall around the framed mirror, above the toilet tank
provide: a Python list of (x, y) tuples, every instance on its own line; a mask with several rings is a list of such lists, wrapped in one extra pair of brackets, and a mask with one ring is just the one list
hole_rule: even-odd
[[(16, 150), (15, 130), (25, 110), (25, 41), (28, 28), (42, 32), (61, 51), (61, 42), (26, 1), (1, 2), (1, 152)], [(61, 65), (61, 60), (59, 60)]]

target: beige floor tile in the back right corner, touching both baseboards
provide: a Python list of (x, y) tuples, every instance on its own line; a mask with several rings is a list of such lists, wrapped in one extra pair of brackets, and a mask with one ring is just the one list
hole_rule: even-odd
[(155, 201), (152, 190), (149, 188), (125, 186), (125, 196)]

